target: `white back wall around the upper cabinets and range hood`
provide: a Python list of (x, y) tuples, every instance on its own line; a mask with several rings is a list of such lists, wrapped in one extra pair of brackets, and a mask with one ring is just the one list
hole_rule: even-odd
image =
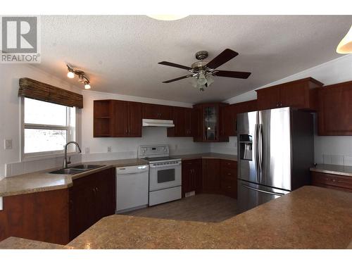
[[(124, 96), (101, 92), (83, 92), (84, 108), (82, 109), (82, 151), (83, 161), (96, 159), (108, 160), (113, 158), (137, 158), (137, 148), (146, 144), (169, 144), (173, 154), (199, 153), (210, 151), (210, 144), (193, 142), (191, 137), (167, 137), (166, 127), (143, 127), (142, 137), (135, 138), (94, 138), (93, 137), (93, 101), (101, 99), (118, 99), (126, 101), (140, 101), (144, 103), (158, 103), (170, 106), (191, 107), (189, 103), (175, 101), (161, 101), (136, 96)], [(112, 152), (108, 153), (108, 146)], [(85, 153), (87, 147), (89, 154)]]

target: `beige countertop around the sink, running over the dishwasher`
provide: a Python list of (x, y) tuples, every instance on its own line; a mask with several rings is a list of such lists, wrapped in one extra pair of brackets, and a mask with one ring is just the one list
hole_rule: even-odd
[(146, 161), (138, 158), (122, 159), (115, 161), (92, 161), (83, 164), (96, 164), (104, 165), (101, 168), (94, 170), (88, 170), (85, 172), (77, 173), (75, 175), (60, 175), (50, 174), (53, 170), (59, 168), (53, 168), (50, 170), (42, 170), (39, 172), (31, 172), (23, 175), (17, 175), (13, 177), (6, 177), (0, 180), (0, 196), (11, 196), (17, 194), (30, 194), (39, 191), (50, 191), (56, 189), (65, 189), (72, 186), (72, 181), (91, 175), (92, 173), (106, 170), (107, 168), (132, 166), (132, 165), (145, 165)]

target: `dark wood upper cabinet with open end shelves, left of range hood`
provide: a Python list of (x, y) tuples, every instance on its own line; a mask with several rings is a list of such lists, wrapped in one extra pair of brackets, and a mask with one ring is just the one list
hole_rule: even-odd
[(142, 103), (94, 101), (94, 137), (142, 137)]

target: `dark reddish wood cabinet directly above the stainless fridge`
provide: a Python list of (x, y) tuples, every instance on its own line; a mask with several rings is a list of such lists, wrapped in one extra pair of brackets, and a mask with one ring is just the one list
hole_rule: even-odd
[(256, 90), (258, 109), (270, 109), (291, 106), (293, 108), (316, 111), (318, 108), (318, 90), (322, 83), (312, 77), (277, 84)]

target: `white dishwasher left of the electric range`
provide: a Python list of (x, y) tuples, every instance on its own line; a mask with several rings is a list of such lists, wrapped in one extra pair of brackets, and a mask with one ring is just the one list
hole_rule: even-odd
[(116, 212), (148, 206), (149, 165), (116, 168)]

